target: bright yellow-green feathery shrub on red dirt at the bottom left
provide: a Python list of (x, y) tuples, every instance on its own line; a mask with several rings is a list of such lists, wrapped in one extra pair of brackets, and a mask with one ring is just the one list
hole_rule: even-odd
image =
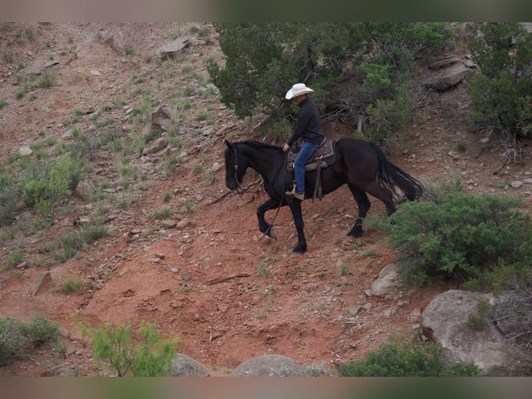
[(171, 374), (172, 359), (181, 339), (165, 339), (153, 324), (143, 324), (134, 334), (129, 323), (115, 327), (106, 323), (99, 329), (88, 329), (94, 346), (94, 359), (103, 360), (118, 377), (155, 377)]

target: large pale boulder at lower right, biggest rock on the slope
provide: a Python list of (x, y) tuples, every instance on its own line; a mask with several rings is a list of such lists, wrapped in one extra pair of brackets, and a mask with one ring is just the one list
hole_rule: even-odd
[(480, 316), (479, 300), (494, 303), (488, 293), (451, 290), (436, 295), (422, 313), (425, 336), (444, 349), (447, 361), (473, 361), (483, 375), (501, 376), (519, 372), (526, 359), (510, 345), (485, 315), (485, 327), (472, 329), (465, 323), (469, 315)]

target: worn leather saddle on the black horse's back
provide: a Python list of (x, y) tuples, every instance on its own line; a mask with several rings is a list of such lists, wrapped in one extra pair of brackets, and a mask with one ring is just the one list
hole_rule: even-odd
[[(301, 149), (301, 146), (294, 142), (292, 147), (290, 147), (290, 152), (288, 152), (288, 159), (286, 168), (290, 174), (294, 173), (294, 160), (297, 156), (297, 153)], [(313, 202), (316, 198), (323, 198), (322, 193), (322, 168), (329, 168), (336, 161), (336, 142), (335, 140), (326, 140), (324, 139), (322, 143), (317, 147), (316, 151), (310, 158), (308, 158), (307, 163), (305, 164), (305, 171), (315, 170), (316, 173), (316, 184), (314, 187)]]

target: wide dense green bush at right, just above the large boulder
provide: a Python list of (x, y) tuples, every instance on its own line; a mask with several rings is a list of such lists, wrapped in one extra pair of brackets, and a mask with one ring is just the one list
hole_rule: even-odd
[(498, 259), (512, 261), (526, 240), (529, 215), (517, 198), (453, 193), (442, 204), (406, 202), (390, 216), (389, 243), (401, 250), (399, 275), (422, 285), (428, 277), (470, 279)]

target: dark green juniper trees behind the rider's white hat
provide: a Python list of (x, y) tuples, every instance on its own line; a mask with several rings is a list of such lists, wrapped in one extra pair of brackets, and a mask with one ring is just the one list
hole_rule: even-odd
[(371, 106), (375, 139), (410, 122), (412, 101), (404, 101), (404, 89), (415, 60), (441, 51), (452, 37), (441, 23), (219, 23), (215, 28), (224, 61), (211, 61), (208, 71), (221, 101), (236, 115), (263, 112), (272, 123), (293, 123), (297, 107), (284, 97), (301, 82), (315, 90), (322, 113), (347, 113), (356, 120)]

